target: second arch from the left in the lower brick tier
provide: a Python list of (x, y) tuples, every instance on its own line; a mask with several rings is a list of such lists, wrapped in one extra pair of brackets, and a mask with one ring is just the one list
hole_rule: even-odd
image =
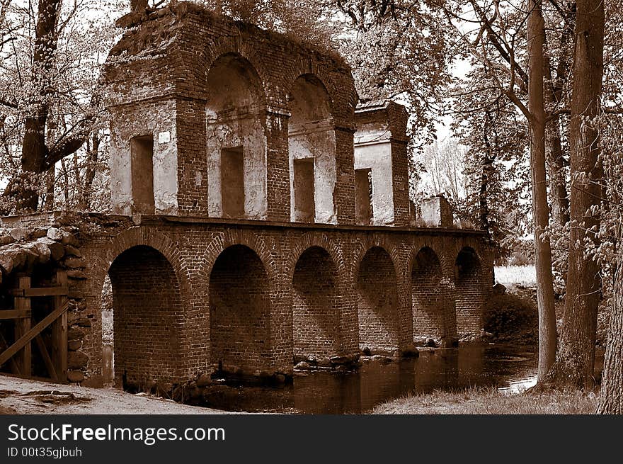
[(225, 249), (210, 273), (210, 341), (215, 368), (258, 375), (270, 364), (270, 295), (260, 257)]

